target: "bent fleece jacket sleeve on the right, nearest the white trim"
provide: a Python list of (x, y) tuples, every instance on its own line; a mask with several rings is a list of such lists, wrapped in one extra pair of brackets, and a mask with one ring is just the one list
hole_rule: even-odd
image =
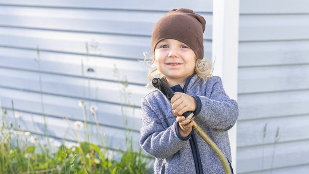
[(205, 127), (227, 131), (236, 123), (239, 116), (238, 104), (225, 93), (219, 76), (215, 79), (210, 98), (200, 95), (193, 97), (201, 105), (195, 120)]

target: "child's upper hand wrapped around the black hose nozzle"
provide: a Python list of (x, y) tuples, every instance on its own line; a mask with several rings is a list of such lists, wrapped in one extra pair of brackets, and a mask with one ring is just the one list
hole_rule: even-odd
[(171, 105), (174, 115), (180, 116), (186, 111), (195, 111), (197, 108), (197, 101), (192, 96), (176, 92), (171, 98)]

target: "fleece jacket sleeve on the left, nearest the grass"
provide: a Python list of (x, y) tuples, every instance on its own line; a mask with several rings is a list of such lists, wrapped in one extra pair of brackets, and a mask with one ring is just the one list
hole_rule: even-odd
[(179, 151), (191, 137), (176, 133), (177, 122), (165, 129), (145, 98), (142, 98), (142, 128), (140, 145), (155, 158), (169, 158)]

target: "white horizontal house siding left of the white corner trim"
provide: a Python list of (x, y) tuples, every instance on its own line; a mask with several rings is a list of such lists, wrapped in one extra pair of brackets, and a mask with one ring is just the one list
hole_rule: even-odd
[[(136, 106), (134, 111), (132, 107), (124, 108), (137, 149), (141, 127), (140, 99), (149, 92), (144, 88), (148, 70), (138, 60), (144, 59), (143, 51), (151, 50), (155, 22), (169, 10), (180, 7), (193, 9), (204, 16), (207, 22), (205, 58), (210, 58), (210, 1), (0, 0), (0, 96), (2, 108), (8, 110), (8, 120), (14, 120), (13, 100), (15, 111), (22, 113), (19, 119), (25, 131), (46, 136), (45, 115), (49, 136), (55, 139), (53, 146), (63, 143), (63, 138), (76, 142), (70, 124), (63, 116), (73, 122), (83, 121), (78, 101), (85, 98), (87, 120), (92, 122), (88, 126), (94, 130), (91, 142), (101, 145), (94, 117), (89, 111), (90, 106), (97, 105), (100, 128), (108, 146), (112, 150), (124, 149), (125, 122), (121, 112), (124, 98), (120, 92), (122, 85), (113, 76), (115, 64), (120, 76), (126, 76), (128, 100)], [(37, 61), (37, 48), (40, 62)], [(95, 72), (87, 72), (88, 68)], [(87, 141), (84, 131), (81, 139)]]

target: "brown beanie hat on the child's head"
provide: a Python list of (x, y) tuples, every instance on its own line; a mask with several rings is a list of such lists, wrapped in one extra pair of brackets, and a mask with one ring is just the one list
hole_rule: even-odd
[(152, 55), (155, 47), (163, 39), (176, 39), (188, 45), (197, 56), (204, 58), (204, 39), (206, 21), (203, 16), (187, 8), (170, 10), (155, 24), (151, 36)]

